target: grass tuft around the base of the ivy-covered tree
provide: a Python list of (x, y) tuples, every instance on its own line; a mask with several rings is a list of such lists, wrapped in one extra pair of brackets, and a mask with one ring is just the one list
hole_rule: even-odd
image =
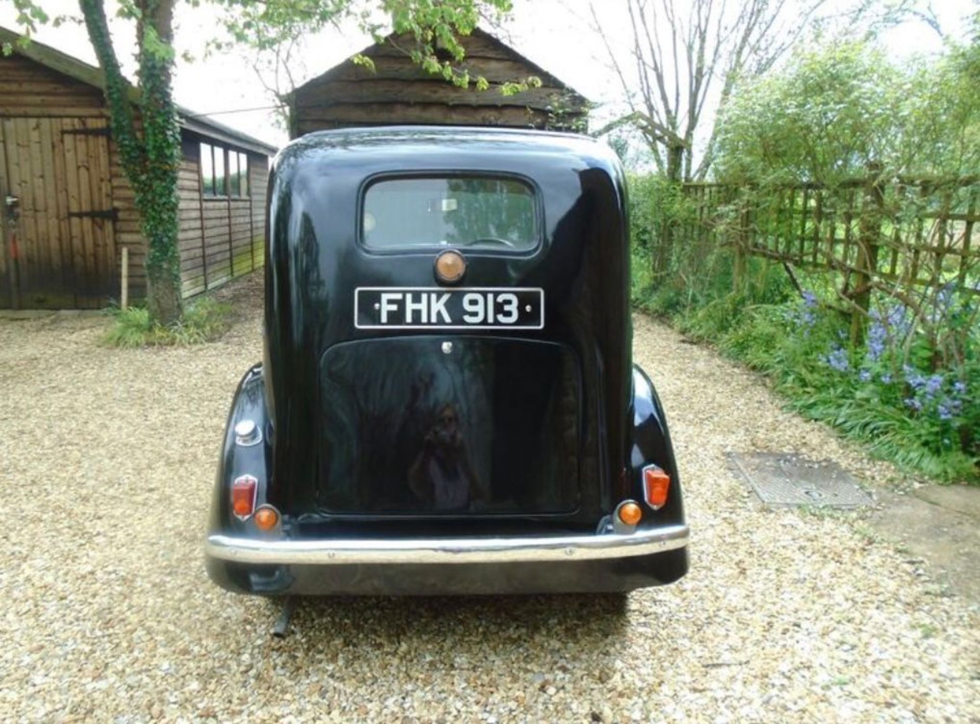
[(106, 331), (103, 343), (109, 347), (135, 349), (211, 342), (228, 329), (230, 311), (230, 305), (206, 297), (188, 306), (179, 321), (165, 326), (151, 321), (149, 311), (143, 307), (114, 310), (113, 324)]

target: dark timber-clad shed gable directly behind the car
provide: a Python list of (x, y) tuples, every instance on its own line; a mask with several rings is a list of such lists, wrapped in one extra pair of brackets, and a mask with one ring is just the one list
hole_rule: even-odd
[[(290, 94), (290, 135), (391, 124), (585, 130), (588, 101), (557, 77), (479, 28), (461, 40), (461, 70), (485, 77), (489, 89), (460, 88), (423, 71), (407, 53), (412, 38), (389, 35), (361, 51), (373, 70), (348, 60)], [(500, 92), (503, 83), (531, 75), (541, 87), (512, 96)]]

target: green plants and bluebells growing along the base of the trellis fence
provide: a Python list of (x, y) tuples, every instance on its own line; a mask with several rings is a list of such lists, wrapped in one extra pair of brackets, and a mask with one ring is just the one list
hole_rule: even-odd
[[(733, 291), (733, 251), (683, 231), (693, 211), (676, 187), (630, 182), (636, 307), (758, 370), (794, 410), (874, 455), (940, 481), (980, 478), (980, 299), (950, 287), (915, 311), (876, 294), (867, 338), (850, 349), (849, 315), (834, 308), (827, 276), (798, 271), (801, 297), (781, 265), (749, 258)], [(671, 224), (677, 236), (655, 275)]]

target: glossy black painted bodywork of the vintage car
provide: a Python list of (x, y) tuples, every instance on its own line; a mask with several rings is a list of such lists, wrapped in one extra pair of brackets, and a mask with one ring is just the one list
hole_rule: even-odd
[[(457, 287), (540, 287), (543, 329), (355, 326), (358, 287), (440, 286), (433, 260), (442, 249), (360, 243), (363, 189), (388, 174), (446, 173), (513, 175), (536, 189), (537, 247), (464, 249)], [(228, 512), (230, 481), (248, 473), (293, 537), (589, 533), (618, 502), (642, 500), (640, 468), (651, 462), (673, 484), (667, 505), (647, 508), (641, 525), (683, 521), (663, 411), (631, 365), (626, 189), (605, 145), (472, 128), (314, 133), (275, 159), (269, 205), (265, 361), (232, 405), (213, 532), (256, 533)], [(263, 445), (234, 445), (231, 428), (243, 418), (259, 423)], [(543, 591), (628, 589), (674, 580), (686, 560), (580, 561), (561, 574), (528, 564), (514, 580), (537, 579)], [(343, 581), (364, 580), (364, 567), (270, 571), (209, 560), (221, 585), (253, 593), (346, 591)], [(480, 574), (456, 568), (446, 590), (478, 589), (470, 575)], [(494, 590), (520, 588), (493, 575)], [(389, 572), (378, 585), (400, 591), (396, 579), (421, 580)]]

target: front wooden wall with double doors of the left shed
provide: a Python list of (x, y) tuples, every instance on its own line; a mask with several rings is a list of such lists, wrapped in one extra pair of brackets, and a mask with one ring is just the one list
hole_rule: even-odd
[(77, 216), (114, 204), (107, 124), (98, 88), (0, 55), (0, 195), (21, 213), (0, 209), (0, 307), (98, 307), (118, 288), (116, 224)]

